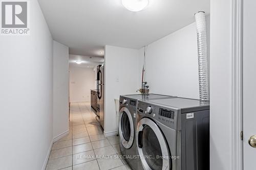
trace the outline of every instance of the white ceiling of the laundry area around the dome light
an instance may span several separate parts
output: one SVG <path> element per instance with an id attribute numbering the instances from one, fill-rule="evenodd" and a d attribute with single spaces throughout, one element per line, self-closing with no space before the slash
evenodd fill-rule
<path id="1" fill-rule="evenodd" d="M 131 12 L 121 0 L 38 0 L 54 40 L 70 54 L 103 57 L 104 45 L 141 48 L 209 14 L 210 0 L 150 0 Z"/>

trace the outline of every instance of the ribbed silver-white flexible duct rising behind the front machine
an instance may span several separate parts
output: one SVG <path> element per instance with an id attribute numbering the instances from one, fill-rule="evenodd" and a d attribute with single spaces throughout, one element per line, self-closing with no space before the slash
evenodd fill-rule
<path id="1" fill-rule="evenodd" d="M 206 20 L 204 12 L 195 14 L 197 25 L 199 93 L 201 101 L 209 100 Z"/>

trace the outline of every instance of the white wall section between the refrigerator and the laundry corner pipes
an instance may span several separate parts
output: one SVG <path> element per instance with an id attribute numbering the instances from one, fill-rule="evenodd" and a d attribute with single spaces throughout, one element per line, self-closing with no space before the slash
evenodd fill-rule
<path id="1" fill-rule="evenodd" d="M 105 46 L 104 133 L 116 131 L 114 99 L 121 94 L 134 94 L 138 87 L 138 50 Z"/>

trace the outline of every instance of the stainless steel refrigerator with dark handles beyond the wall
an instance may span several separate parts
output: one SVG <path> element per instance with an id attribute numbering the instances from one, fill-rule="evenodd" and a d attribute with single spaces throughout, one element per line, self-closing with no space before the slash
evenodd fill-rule
<path id="1" fill-rule="evenodd" d="M 97 116 L 104 129 L 104 65 L 97 66 Z"/>

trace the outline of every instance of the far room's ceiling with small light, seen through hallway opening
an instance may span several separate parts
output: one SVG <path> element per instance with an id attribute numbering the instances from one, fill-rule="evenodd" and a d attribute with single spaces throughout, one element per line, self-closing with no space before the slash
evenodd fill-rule
<path id="1" fill-rule="evenodd" d="M 82 63 L 76 64 L 76 61 L 81 61 Z M 71 67 L 94 68 L 96 65 L 102 64 L 103 62 L 104 58 L 102 57 L 69 55 L 69 65 Z"/>

